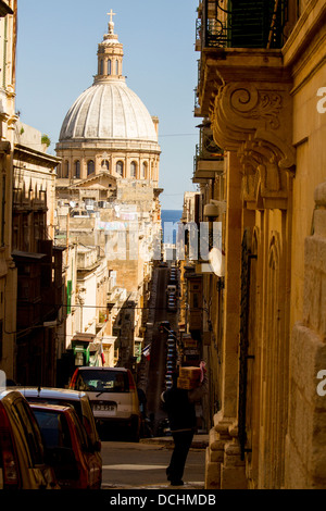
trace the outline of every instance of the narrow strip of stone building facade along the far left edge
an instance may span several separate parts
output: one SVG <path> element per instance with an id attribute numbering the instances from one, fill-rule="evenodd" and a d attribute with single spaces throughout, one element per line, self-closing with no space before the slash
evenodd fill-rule
<path id="1" fill-rule="evenodd" d="M 0 369 L 15 378 L 16 269 L 12 249 L 16 1 L 0 2 Z"/>

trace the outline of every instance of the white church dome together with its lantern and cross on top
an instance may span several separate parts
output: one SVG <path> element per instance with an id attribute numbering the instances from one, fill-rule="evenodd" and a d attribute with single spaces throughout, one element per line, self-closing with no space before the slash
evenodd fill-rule
<path id="1" fill-rule="evenodd" d="M 127 87 L 122 73 L 123 45 L 114 33 L 112 15 L 109 33 L 98 48 L 98 74 L 67 112 L 60 142 L 85 140 L 135 140 L 158 144 L 155 124 L 138 96 Z"/>

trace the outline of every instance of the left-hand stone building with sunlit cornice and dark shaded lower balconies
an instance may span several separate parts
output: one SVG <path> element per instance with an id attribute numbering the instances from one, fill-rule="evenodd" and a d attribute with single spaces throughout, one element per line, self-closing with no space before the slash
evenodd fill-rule
<path id="1" fill-rule="evenodd" d="M 17 269 L 15 379 L 57 382 L 58 332 L 64 322 L 63 251 L 54 247 L 55 167 L 39 130 L 16 123 L 12 258 Z"/>

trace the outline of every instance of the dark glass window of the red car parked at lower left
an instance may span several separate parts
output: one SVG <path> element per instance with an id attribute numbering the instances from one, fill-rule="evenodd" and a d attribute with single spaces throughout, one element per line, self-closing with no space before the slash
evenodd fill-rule
<path id="1" fill-rule="evenodd" d="M 47 448 L 72 448 L 71 433 L 63 413 L 51 410 L 34 409 L 33 411 Z"/>

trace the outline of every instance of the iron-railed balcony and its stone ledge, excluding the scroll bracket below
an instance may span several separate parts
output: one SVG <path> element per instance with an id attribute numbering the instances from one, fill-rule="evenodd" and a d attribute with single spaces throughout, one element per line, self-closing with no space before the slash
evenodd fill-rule
<path id="1" fill-rule="evenodd" d="M 203 0 L 198 15 L 196 116 L 211 116 L 213 98 L 225 83 L 253 76 L 256 82 L 284 80 L 280 49 L 290 30 L 288 0 Z"/>

